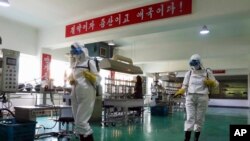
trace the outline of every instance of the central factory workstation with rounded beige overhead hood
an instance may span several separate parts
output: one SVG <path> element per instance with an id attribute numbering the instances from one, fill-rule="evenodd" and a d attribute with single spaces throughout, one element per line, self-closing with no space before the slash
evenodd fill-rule
<path id="1" fill-rule="evenodd" d="M 119 55 L 103 59 L 100 62 L 100 68 L 127 74 L 142 74 L 140 67 L 133 65 L 130 58 Z M 103 100 L 103 124 L 105 126 L 114 126 L 117 123 L 127 125 L 138 121 L 137 119 L 142 119 L 143 114 L 134 109 L 143 109 L 144 100 L 132 98 L 134 86 L 135 82 L 132 80 L 105 78 L 106 96 Z"/>

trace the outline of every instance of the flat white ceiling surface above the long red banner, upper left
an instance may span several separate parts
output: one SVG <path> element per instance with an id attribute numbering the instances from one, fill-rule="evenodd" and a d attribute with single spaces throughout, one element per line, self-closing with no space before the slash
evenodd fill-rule
<path id="1" fill-rule="evenodd" d="M 44 28 L 163 0 L 9 0 L 0 16 Z"/>

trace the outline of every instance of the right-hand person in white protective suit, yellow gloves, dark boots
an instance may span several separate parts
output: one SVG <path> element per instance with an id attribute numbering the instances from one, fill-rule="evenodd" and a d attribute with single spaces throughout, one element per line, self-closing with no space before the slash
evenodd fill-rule
<path id="1" fill-rule="evenodd" d="M 194 141 L 198 141 L 205 120 L 210 89 L 217 87 L 219 83 L 211 70 L 203 67 L 200 55 L 192 55 L 189 65 L 191 70 L 185 74 L 182 88 L 175 96 L 186 92 L 185 141 L 190 140 L 192 131 L 195 132 Z"/>

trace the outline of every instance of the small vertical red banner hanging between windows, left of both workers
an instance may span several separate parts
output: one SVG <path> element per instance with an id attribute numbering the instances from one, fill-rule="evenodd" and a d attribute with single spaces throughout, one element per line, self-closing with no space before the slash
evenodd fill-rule
<path id="1" fill-rule="evenodd" d="M 42 80 L 49 80 L 50 78 L 50 63 L 51 55 L 42 54 Z"/>

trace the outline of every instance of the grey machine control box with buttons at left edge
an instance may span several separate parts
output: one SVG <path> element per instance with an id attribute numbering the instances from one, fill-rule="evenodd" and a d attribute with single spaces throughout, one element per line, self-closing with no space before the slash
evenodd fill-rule
<path id="1" fill-rule="evenodd" d="M 0 51 L 0 91 L 18 91 L 18 71 L 20 52 L 1 49 Z"/>

